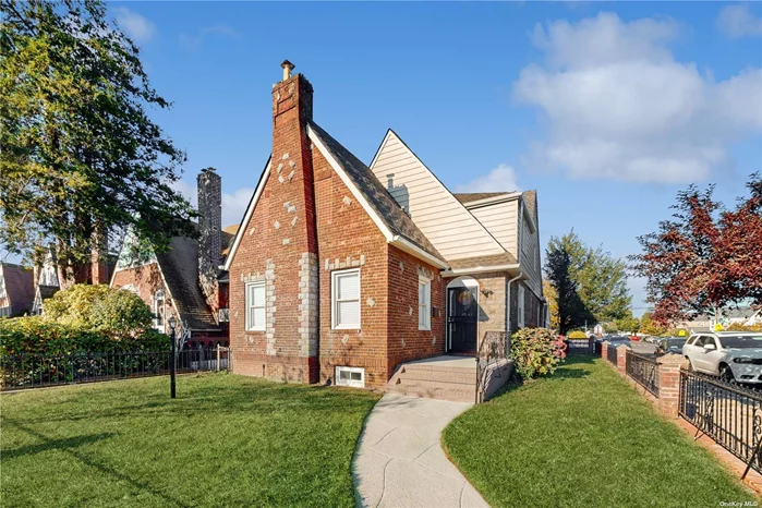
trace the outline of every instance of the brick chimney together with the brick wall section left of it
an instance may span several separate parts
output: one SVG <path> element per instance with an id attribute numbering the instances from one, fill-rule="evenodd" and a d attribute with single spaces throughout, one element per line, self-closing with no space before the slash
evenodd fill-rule
<path id="1" fill-rule="evenodd" d="M 318 380 L 317 237 L 306 122 L 312 86 L 301 75 L 273 87 L 270 176 L 230 266 L 230 341 L 237 373 Z M 306 264 L 305 264 L 306 263 Z M 245 330 L 245 281 L 266 280 L 265 331 Z"/>

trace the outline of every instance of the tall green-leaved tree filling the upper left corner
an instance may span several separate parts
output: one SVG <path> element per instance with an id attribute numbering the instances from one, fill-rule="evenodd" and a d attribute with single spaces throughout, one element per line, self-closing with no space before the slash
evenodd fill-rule
<path id="1" fill-rule="evenodd" d="M 98 0 L 0 0 L 0 244 L 53 244 L 59 280 L 130 228 L 156 249 L 193 235 L 170 184 L 185 155 L 154 123 L 170 104 Z"/>

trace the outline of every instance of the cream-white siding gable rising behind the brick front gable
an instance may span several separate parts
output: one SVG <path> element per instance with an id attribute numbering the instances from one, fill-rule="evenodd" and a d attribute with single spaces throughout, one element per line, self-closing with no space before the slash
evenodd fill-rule
<path id="1" fill-rule="evenodd" d="M 371 170 L 446 259 L 505 252 L 392 131 L 384 137 Z"/>

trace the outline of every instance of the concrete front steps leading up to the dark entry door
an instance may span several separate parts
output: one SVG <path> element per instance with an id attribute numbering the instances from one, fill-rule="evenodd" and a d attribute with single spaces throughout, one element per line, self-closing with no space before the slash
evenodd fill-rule
<path id="1" fill-rule="evenodd" d="M 464 356 L 436 356 L 403 363 L 389 379 L 386 391 L 474 403 L 476 361 Z"/>

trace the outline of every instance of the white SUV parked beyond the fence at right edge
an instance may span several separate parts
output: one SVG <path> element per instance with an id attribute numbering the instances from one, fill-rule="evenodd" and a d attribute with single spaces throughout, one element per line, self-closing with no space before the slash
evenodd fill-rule
<path id="1" fill-rule="evenodd" d="M 726 380 L 762 383 L 762 334 L 714 331 L 692 335 L 682 347 L 689 368 Z"/>

